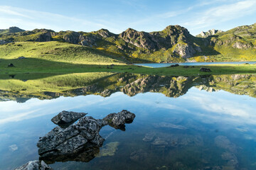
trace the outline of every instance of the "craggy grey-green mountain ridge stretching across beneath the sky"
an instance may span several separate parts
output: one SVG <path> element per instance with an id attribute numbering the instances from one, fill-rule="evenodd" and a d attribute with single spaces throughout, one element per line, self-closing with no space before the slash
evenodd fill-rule
<path id="1" fill-rule="evenodd" d="M 128 62 L 220 62 L 256 60 L 256 23 L 228 31 L 209 30 L 193 36 L 181 26 L 146 33 L 128 28 L 120 34 L 101 29 L 90 33 L 47 29 L 0 33 L 9 42 L 69 42 L 120 57 Z"/>

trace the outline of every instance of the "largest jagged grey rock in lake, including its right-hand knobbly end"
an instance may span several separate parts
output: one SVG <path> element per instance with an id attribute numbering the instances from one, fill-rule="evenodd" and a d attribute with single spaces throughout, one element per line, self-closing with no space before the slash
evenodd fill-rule
<path id="1" fill-rule="evenodd" d="M 124 123 L 131 123 L 134 118 L 134 113 L 121 111 L 111 113 L 103 120 L 85 116 L 66 129 L 55 127 L 38 141 L 40 159 L 48 164 L 67 161 L 89 162 L 100 152 L 100 147 L 105 141 L 99 134 L 103 126 L 123 128 Z"/>

